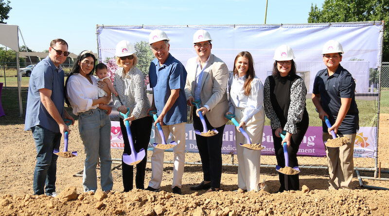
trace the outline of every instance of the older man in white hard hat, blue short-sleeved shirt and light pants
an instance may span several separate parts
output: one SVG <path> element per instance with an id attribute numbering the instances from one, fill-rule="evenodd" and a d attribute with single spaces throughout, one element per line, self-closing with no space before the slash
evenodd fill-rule
<path id="1" fill-rule="evenodd" d="M 186 70 L 169 53 L 169 38 L 166 33 L 154 30 L 149 35 L 149 44 L 155 55 L 149 68 L 150 86 L 153 88 L 153 103 L 149 110 L 157 110 L 158 118 L 154 123 L 162 127 L 165 138 L 172 133 L 177 146 L 174 151 L 174 171 L 172 191 L 181 194 L 182 174 L 185 164 L 185 124 L 187 106 L 185 99 Z M 157 132 L 157 129 L 155 130 Z M 160 144 L 161 137 L 156 133 L 155 141 Z M 152 175 L 147 190 L 159 191 L 162 181 L 164 150 L 154 148 L 151 156 Z"/>

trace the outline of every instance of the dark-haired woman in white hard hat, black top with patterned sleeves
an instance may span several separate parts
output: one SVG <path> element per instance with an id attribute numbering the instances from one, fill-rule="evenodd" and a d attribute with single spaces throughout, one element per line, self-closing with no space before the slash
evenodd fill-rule
<path id="1" fill-rule="evenodd" d="M 277 164 L 285 166 L 282 143 L 288 146 L 289 166 L 299 166 L 297 152 L 304 134 L 308 129 L 308 113 L 305 108 L 307 90 L 304 81 L 296 74 L 293 50 L 281 45 L 274 52 L 273 74 L 265 80 L 264 105 L 266 116 L 270 119 Z M 286 131 L 282 140 L 280 133 Z M 284 175 L 279 173 L 281 187 L 285 190 L 288 178 L 289 190 L 300 190 L 299 174 Z"/>

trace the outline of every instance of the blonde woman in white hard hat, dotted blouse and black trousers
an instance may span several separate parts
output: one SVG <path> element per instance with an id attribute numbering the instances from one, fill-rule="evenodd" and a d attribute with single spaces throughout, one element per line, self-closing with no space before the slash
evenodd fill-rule
<path id="1" fill-rule="evenodd" d="M 124 140 L 123 153 L 130 154 L 130 144 L 128 142 L 127 132 L 124 121 L 130 122 L 130 129 L 134 148 L 136 152 L 141 149 L 147 149 L 150 141 L 151 126 L 153 120 L 147 115 L 150 108 L 150 102 L 146 95 L 146 85 L 144 83 L 144 74 L 136 67 L 138 57 L 135 54 L 134 47 L 129 41 L 122 40 L 116 45 L 116 64 L 119 66 L 115 71 L 115 80 L 113 86 L 118 92 L 118 96 L 112 94 L 113 105 L 119 112 L 126 113 L 130 109 L 130 116 L 126 119 L 120 119 L 120 129 L 122 130 Z M 141 163 L 137 164 L 135 185 L 138 189 L 144 189 L 144 173 L 146 169 L 146 156 Z M 122 174 L 124 192 L 133 188 L 133 169 L 134 166 L 127 165 L 122 158 Z"/>

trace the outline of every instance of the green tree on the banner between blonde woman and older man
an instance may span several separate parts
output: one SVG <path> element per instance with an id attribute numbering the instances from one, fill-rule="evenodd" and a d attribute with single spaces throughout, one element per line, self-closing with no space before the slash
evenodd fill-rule
<path id="1" fill-rule="evenodd" d="M 148 75 L 150 62 L 155 58 L 153 52 L 150 50 L 149 43 L 146 41 L 136 42 L 134 48 L 138 56 L 137 67 L 144 75 Z"/>

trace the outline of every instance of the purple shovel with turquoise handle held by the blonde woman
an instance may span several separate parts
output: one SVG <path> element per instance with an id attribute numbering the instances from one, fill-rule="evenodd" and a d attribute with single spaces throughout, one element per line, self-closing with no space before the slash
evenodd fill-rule
<path id="1" fill-rule="evenodd" d="M 127 108 L 126 114 L 123 114 L 122 112 L 119 113 L 124 118 L 127 118 L 130 115 L 130 108 Z M 132 142 L 130 123 L 128 122 L 128 120 L 124 121 L 124 125 L 125 125 L 125 130 L 127 131 L 128 142 L 130 143 L 131 154 L 128 155 L 127 153 L 123 153 L 123 162 L 130 166 L 134 166 L 141 163 L 144 156 L 146 155 L 146 152 L 144 151 L 143 148 L 139 150 L 139 152 L 135 151 L 134 143 Z"/>

